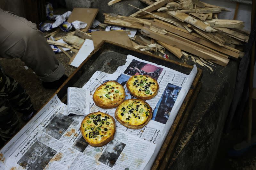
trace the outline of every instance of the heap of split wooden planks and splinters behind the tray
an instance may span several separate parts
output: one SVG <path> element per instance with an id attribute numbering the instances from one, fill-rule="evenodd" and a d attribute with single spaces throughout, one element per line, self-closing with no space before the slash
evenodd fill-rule
<path id="1" fill-rule="evenodd" d="M 208 64 L 206 67 L 212 63 L 226 66 L 230 58 L 243 56 L 241 49 L 248 42 L 248 32 L 243 30 L 242 21 L 218 19 L 218 13 L 227 9 L 199 0 L 140 1 L 148 6 L 137 8 L 129 17 L 104 14 L 105 24 L 136 28 L 149 38 L 136 35 L 134 48 L 163 54 L 166 49 L 178 58 L 189 53 L 192 61 Z"/>

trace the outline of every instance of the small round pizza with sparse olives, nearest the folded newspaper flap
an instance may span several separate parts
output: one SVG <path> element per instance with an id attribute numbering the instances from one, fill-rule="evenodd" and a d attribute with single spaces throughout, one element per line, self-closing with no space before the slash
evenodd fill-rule
<path id="1" fill-rule="evenodd" d="M 100 85 L 92 97 L 94 103 L 103 109 L 117 107 L 124 98 L 124 87 L 116 81 L 107 81 Z"/>

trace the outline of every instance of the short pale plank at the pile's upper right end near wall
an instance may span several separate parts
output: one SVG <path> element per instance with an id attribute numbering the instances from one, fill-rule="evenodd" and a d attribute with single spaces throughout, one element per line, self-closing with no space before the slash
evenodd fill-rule
<path id="1" fill-rule="evenodd" d="M 212 27 L 221 27 L 221 28 L 243 28 L 244 22 L 238 20 L 228 20 L 228 19 L 212 19 L 206 21 Z"/>

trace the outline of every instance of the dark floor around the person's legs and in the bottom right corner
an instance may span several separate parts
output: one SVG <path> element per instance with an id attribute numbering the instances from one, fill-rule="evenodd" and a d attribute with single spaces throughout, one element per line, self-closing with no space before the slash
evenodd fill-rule
<path id="1" fill-rule="evenodd" d="M 44 34 L 46 35 L 47 33 Z M 59 32 L 56 37 L 63 34 L 65 33 Z M 74 53 L 68 53 L 71 56 L 74 55 Z M 70 76 L 75 68 L 68 66 L 69 58 L 63 53 L 56 56 L 60 63 L 64 65 L 65 74 Z M 55 92 L 55 90 L 44 89 L 38 76 L 33 73 L 33 70 L 26 70 L 25 63 L 21 62 L 20 59 L 0 58 L 0 64 L 6 74 L 16 79 L 26 89 L 36 110 L 39 110 Z M 24 122 L 21 122 L 21 124 L 24 124 Z M 213 169 L 256 169 L 256 147 L 252 147 L 239 158 L 230 158 L 227 155 L 228 149 L 242 140 L 242 131 L 232 131 L 228 135 L 223 134 Z"/>

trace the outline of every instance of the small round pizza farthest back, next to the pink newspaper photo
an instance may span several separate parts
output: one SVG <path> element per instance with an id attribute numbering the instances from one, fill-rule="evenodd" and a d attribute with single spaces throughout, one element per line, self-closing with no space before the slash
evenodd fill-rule
<path id="1" fill-rule="evenodd" d="M 129 78 L 126 87 L 132 96 L 148 100 L 156 96 L 159 89 L 157 81 L 147 75 L 135 75 Z"/>

